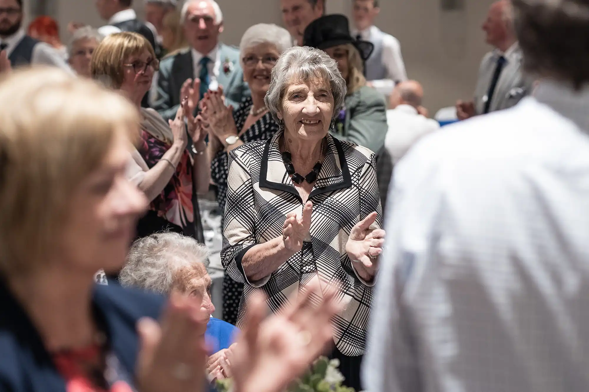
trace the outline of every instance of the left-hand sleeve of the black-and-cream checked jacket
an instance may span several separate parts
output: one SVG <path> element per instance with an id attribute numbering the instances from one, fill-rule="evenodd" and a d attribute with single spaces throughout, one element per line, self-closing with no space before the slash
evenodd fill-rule
<path id="1" fill-rule="evenodd" d="M 227 175 L 221 263 L 234 281 L 249 283 L 243 272 L 241 259 L 249 248 L 256 245 L 255 227 L 256 208 L 254 207 L 252 177 L 237 152 L 231 151 L 229 154 L 229 175 Z"/>

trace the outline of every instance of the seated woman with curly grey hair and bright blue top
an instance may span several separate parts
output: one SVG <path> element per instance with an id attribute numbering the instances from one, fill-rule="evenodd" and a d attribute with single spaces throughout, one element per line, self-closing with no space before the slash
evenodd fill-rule
<path id="1" fill-rule="evenodd" d="M 202 297 L 201 307 L 213 314 L 209 250 L 194 238 L 174 232 L 152 234 L 135 241 L 127 256 L 127 263 L 119 281 L 123 286 L 138 287 L 164 295 L 172 292 Z M 235 338 L 234 325 L 211 316 L 207 324 L 207 347 L 210 357 L 207 370 L 213 377 L 230 374 L 227 355 Z M 213 355 L 216 354 L 216 355 Z"/>

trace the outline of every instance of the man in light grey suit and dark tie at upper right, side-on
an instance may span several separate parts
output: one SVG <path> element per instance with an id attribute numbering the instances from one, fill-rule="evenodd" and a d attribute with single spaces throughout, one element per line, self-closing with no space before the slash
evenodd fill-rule
<path id="1" fill-rule="evenodd" d="M 459 119 L 510 108 L 532 89 L 533 80 L 522 73 L 522 54 L 508 0 L 491 5 L 482 29 L 487 34 L 487 44 L 495 49 L 482 59 L 474 101 L 456 102 Z"/>

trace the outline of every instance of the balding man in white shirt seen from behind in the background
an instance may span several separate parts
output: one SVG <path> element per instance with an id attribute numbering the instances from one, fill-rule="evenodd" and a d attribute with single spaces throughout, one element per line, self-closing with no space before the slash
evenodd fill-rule
<path id="1" fill-rule="evenodd" d="M 422 101 L 423 87 L 413 80 L 399 83 L 391 94 L 391 109 L 386 112 L 389 131 L 385 147 L 391 154 L 393 164 L 419 139 L 440 128 L 438 121 L 422 115 Z"/>

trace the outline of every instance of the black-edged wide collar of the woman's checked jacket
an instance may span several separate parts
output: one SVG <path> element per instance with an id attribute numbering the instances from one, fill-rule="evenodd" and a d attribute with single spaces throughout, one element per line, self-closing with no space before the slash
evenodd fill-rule
<path id="1" fill-rule="evenodd" d="M 262 155 L 262 167 L 260 167 L 260 188 L 289 192 L 300 199 L 299 192 L 294 188 L 293 182 L 286 172 L 280 153 L 279 141 L 283 134 L 283 131 L 276 132 L 272 139 L 266 142 Z M 348 162 L 343 155 L 342 143 L 328 134 L 326 150 L 321 171 L 309 199 L 318 194 L 352 186 L 352 177 Z"/>

